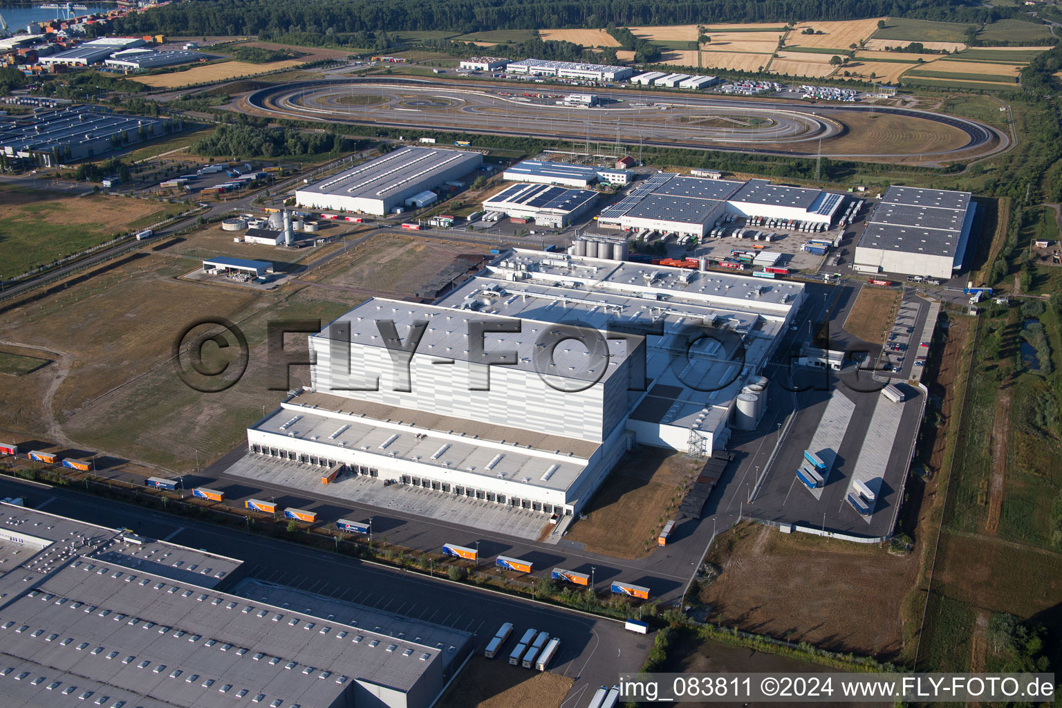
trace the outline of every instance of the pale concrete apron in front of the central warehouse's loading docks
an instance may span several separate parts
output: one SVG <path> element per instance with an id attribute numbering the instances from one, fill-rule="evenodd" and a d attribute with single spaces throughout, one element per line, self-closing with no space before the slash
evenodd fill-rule
<path id="1" fill-rule="evenodd" d="M 436 521 L 461 524 L 483 531 L 537 540 L 548 525 L 547 517 L 530 510 L 513 510 L 467 497 L 444 496 L 435 491 L 401 484 L 383 486 L 370 477 L 342 477 L 321 484 L 321 469 L 286 460 L 245 456 L 225 470 L 228 477 L 241 477 L 287 489 L 302 489 L 335 497 L 338 502 L 355 502 L 380 510 L 414 514 Z"/>

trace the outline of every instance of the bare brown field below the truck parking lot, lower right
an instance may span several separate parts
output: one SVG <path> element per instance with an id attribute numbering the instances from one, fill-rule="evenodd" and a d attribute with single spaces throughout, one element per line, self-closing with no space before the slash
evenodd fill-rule
<path id="1" fill-rule="evenodd" d="M 707 560 L 722 569 L 700 595 L 716 621 L 885 659 L 902 650 L 900 608 L 917 554 L 742 523 L 720 534 Z M 780 592 L 784 577 L 799 577 L 800 591 Z"/>

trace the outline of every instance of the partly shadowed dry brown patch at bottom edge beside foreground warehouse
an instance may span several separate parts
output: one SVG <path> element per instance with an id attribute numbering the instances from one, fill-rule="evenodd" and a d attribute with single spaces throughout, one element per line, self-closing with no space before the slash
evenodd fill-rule
<path id="1" fill-rule="evenodd" d="M 527 671 L 476 655 L 436 708 L 559 708 L 573 680 L 548 671 Z"/>

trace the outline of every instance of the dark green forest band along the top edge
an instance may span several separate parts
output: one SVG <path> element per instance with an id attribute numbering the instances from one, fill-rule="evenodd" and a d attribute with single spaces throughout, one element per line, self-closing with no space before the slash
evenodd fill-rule
<path id="1" fill-rule="evenodd" d="M 846 20 L 876 16 L 984 22 L 1023 17 L 1022 7 L 960 0 L 193 0 L 115 21 L 139 35 L 259 35 L 356 32 L 636 27 L 712 22 Z"/>

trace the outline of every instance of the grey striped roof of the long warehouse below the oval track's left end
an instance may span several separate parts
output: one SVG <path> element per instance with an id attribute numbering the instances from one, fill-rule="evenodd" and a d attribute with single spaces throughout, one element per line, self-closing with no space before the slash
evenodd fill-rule
<path id="1" fill-rule="evenodd" d="M 400 148 L 322 182 L 302 187 L 298 191 L 384 200 L 400 194 L 411 185 L 430 179 L 444 170 L 464 167 L 470 172 L 482 162 L 483 156 L 477 152 Z"/>

